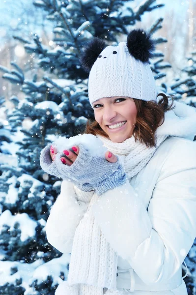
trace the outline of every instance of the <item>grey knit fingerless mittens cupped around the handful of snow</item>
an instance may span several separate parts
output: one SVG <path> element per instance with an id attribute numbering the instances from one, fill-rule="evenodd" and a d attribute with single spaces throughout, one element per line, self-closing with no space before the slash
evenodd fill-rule
<path id="1" fill-rule="evenodd" d="M 100 156 L 92 156 L 82 144 L 75 162 L 65 165 L 60 160 L 60 153 L 52 161 L 50 157 L 50 146 L 48 145 L 41 151 L 40 165 L 42 169 L 50 175 L 69 180 L 78 188 L 84 191 L 95 189 L 98 195 L 120 186 L 126 181 L 123 167 L 117 160 L 110 163 Z"/>

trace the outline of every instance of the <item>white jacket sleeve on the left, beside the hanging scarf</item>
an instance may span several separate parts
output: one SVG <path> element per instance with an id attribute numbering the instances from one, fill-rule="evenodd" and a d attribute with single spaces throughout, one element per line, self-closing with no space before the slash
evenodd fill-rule
<path id="1" fill-rule="evenodd" d="M 76 228 L 87 210 L 94 191 L 84 192 L 63 180 L 61 192 L 46 223 L 48 242 L 62 253 L 71 253 Z"/>

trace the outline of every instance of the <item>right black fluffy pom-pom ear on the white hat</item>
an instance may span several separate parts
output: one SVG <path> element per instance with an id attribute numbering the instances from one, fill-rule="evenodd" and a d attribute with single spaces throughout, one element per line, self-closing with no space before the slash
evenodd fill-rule
<path id="1" fill-rule="evenodd" d="M 135 59 L 148 62 L 155 50 L 155 42 L 143 29 L 133 29 L 127 36 L 127 47 L 130 55 Z"/>

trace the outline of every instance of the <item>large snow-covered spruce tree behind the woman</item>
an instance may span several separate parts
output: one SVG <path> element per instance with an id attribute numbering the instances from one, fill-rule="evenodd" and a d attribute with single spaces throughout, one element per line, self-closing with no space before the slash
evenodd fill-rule
<path id="1" fill-rule="evenodd" d="M 138 1 L 137 1 L 138 3 Z M 156 0 L 34 0 L 34 5 L 48 13 L 54 24 L 54 38 L 50 46 L 42 44 L 38 34 L 25 40 L 25 50 L 44 71 L 37 81 L 17 64 L 13 69 L 0 69 L 3 78 L 21 85 L 25 99 L 11 97 L 14 104 L 7 110 L 6 127 L 12 135 L 9 153 L 17 155 L 17 164 L 6 161 L 5 142 L 0 164 L 0 294 L 53 295 L 56 286 L 67 277 L 70 255 L 59 253 L 47 242 L 44 226 L 50 207 L 59 193 L 60 181 L 43 173 L 39 154 L 56 136 L 66 137 L 79 133 L 86 120 L 93 118 L 87 99 L 87 74 L 81 69 L 79 57 L 84 43 L 92 36 L 106 39 L 115 45 L 126 38 L 130 26 L 141 21 L 144 13 L 163 4 Z M 151 33 L 161 28 L 163 19 L 151 27 Z M 157 38 L 157 44 L 166 42 Z M 152 61 L 155 78 L 166 74 L 170 67 L 163 54 L 156 51 Z M 2 183 L 7 183 L 3 186 Z"/>

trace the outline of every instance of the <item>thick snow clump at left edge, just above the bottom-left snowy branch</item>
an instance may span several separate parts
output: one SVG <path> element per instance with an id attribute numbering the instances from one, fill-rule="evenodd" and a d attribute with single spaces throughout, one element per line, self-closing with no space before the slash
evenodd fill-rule
<path id="1" fill-rule="evenodd" d="M 12 215 L 9 210 L 5 210 L 0 215 L 0 231 L 3 225 L 10 226 L 10 231 L 12 231 L 16 222 L 20 224 L 21 241 L 25 241 L 28 237 L 35 236 L 37 222 L 30 219 L 27 213 Z"/>

